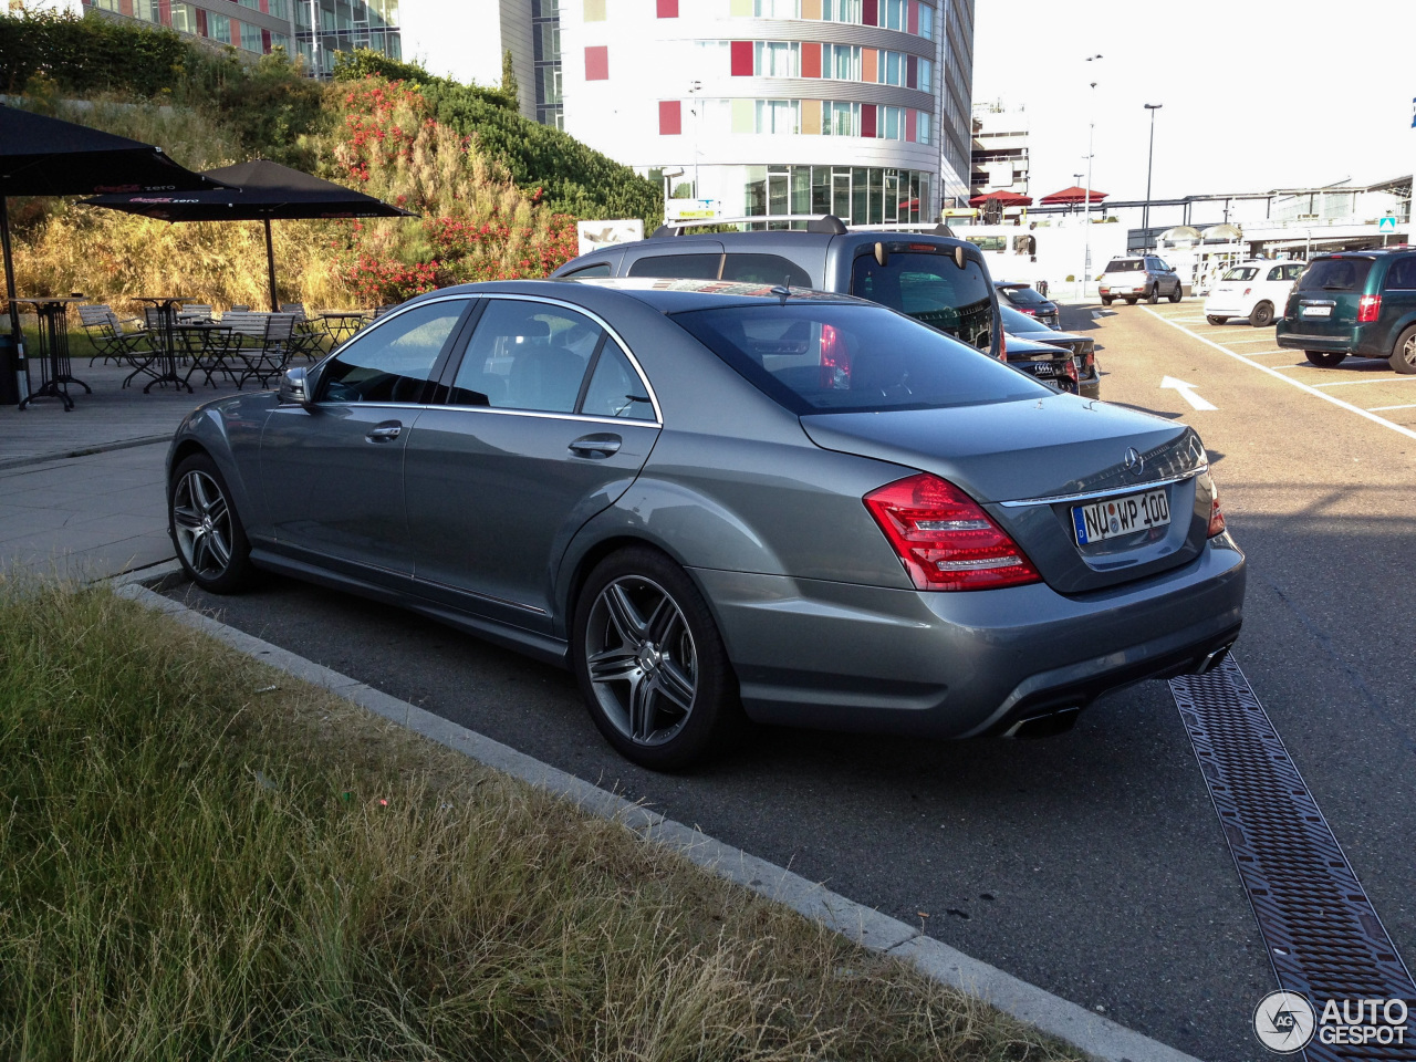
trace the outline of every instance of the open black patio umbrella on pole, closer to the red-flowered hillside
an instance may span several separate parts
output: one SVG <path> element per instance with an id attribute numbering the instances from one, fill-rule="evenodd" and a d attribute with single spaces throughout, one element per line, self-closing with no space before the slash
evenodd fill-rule
<path id="1" fill-rule="evenodd" d="M 265 159 L 207 170 L 202 176 L 235 187 L 183 195 L 96 195 L 84 202 L 163 221 L 263 221 L 272 310 L 280 309 L 275 290 L 272 221 L 418 217 L 412 211 L 346 188 L 343 184 L 324 181 Z"/>

